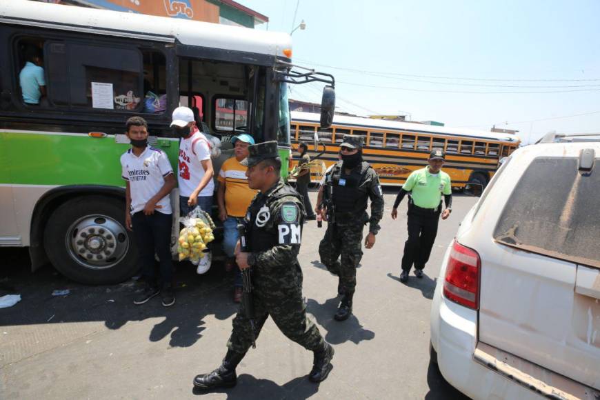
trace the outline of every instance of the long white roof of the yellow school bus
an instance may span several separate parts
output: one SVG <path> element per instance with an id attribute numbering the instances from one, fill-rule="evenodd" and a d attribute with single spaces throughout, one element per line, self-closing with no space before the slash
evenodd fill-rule
<path id="1" fill-rule="evenodd" d="M 319 114 L 312 112 L 291 112 L 292 121 L 319 123 Z M 488 132 L 486 130 L 470 130 L 461 128 L 448 128 L 446 126 L 432 126 L 421 123 L 385 121 L 381 119 L 371 119 L 362 117 L 346 117 L 345 115 L 334 115 L 333 125 L 352 126 L 357 128 L 369 128 L 380 130 L 401 130 L 402 132 L 412 132 L 415 134 L 440 134 L 446 136 L 466 137 L 472 139 L 508 141 L 519 143 L 519 137 L 514 134 Z"/>

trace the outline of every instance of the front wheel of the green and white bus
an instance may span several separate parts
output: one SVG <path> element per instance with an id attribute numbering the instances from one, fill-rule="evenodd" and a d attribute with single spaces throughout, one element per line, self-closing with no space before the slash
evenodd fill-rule
<path id="1" fill-rule="evenodd" d="M 59 206 L 48 219 L 44 247 L 54 268 L 80 283 L 119 283 L 137 272 L 125 205 L 110 197 L 81 197 Z"/>

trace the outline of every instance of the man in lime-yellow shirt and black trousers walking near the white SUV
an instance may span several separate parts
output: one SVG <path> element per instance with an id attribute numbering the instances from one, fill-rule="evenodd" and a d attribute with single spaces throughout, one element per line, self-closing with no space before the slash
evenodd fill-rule
<path id="1" fill-rule="evenodd" d="M 400 274 L 402 282 L 408 281 L 408 272 L 413 264 L 417 278 L 423 277 L 423 268 L 431 254 L 440 214 L 441 219 L 446 219 L 452 212 L 452 186 L 448 174 L 441 170 L 443 163 L 443 150 L 434 148 L 429 157 L 429 166 L 415 170 L 408 176 L 394 202 L 392 219 L 396 219 L 400 202 L 410 193 L 407 214 L 408 239 L 404 244 Z M 446 204 L 443 211 L 442 194 Z"/>

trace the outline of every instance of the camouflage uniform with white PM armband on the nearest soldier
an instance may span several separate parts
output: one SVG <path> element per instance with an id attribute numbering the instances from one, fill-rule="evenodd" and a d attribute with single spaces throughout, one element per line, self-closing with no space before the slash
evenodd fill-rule
<path id="1" fill-rule="evenodd" d="M 268 212 L 266 212 L 268 210 Z M 270 315 L 289 339 L 311 351 L 323 349 L 319 328 L 306 316 L 302 298 L 302 270 L 298 262 L 303 202 L 299 194 L 279 180 L 270 190 L 259 193 L 246 215 L 246 240 L 252 267 L 252 298 L 258 336 Z M 227 343 L 230 350 L 244 353 L 252 344 L 252 328 L 242 303 L 233 320 Z"/>

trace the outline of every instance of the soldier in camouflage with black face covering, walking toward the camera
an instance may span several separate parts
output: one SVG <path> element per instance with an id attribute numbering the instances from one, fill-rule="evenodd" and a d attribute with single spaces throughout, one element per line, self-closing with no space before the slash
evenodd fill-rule
<path id="1" fill-rule="evenodd" d="M 321 212 L 326 214 L 328 224 L 319 255 L 329 272 L 339 277 L 337 291 L 342 299 L 334 319 L 345 321 L 352 314 L 357 266 L 363 257 L 363 226 L 369 223 L 365 239 L 365 247 L 369 249 L 375 244 L 383 217 L 383 193 L 377 172 L 362 159 L 362 137 L 344 135 L 340 154 L 341 161 L 325 178 Z M 366 212 L 368 199 L 371 199 L 370 218 Z"/>

